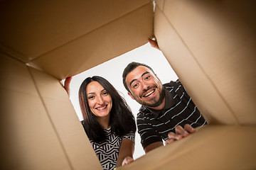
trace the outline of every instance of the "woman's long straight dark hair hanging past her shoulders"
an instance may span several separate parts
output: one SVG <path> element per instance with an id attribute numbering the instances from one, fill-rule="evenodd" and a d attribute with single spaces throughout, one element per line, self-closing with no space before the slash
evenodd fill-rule
<path id="1" fill-rule="evenodd" d="M 114 86 L 103 77 L 88 77 L 85 79 L 79 89 L 79 103 L 82 111 L 82 125 L 90 140 L 94 142 L 104 142 L 106 139 L 105 131 L 97 121 L 96 116 L 90 111 L 87 100 L 86 87 L 90 82 L 97 81 L 110 94 L 112 98 L 112 109 L 110 111 L 110 126 L 111 131 L 123 136 L 129 132 L 136 132 L 136 124 L 132 111 L 126 101 L 120 96 Z"/>

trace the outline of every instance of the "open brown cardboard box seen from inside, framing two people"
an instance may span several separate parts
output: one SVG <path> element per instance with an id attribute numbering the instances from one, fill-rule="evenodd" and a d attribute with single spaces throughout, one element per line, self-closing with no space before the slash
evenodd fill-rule
<path id="1" fill-rule="evenodd" d="M 1 1 L 1 169 L 102 169 L 60 80 L 152 35 L 208 125 L 119 169 L 255 169 L 254 6 Z"/>

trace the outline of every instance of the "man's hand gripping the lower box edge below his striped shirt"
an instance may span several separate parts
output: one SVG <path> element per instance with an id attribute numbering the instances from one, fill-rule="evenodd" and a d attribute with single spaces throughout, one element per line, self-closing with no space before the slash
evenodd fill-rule
<path id="1" fill-rule="evenodd" d="M 186 124 L 184 128 L 182 128 L 180 125 L 176 126 L 175 132 L 176 133 L 169 132 L 169 139 L 165 142 L 166 145 L 176 140 L 181 140 L 183 137 L 187 137 L 190 133 L 196 132 L 196 130 L 191 125 Z"/>

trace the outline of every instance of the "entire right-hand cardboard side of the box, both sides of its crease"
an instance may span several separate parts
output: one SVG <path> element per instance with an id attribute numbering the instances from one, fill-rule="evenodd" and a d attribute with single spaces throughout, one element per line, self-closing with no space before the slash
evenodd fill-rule
<path id="1" fill-rule="evenodd" d="M 165 1 L 155 19 L 161 50 L 210 123 L 256 123 L 254 2 L 240 4 Z M 187 54 L 176 50 L 175 36 Z"/>

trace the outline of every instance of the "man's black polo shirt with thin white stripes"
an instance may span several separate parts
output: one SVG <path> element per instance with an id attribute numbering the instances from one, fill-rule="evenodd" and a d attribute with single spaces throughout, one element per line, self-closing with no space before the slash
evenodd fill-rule
<path id="1" fill-rule="evenodd" d="M 162 111 L 153 111 L 142 106 L 137 114 L 137 127 L 143 148 L 154 142 L 168 139 L 169 132 L 175 132 L 177 125 L 193 128 L 206 125 L 206 120 L 191 100 L 181 81 L 164 84 L 165 106 Z"/>

